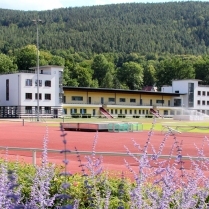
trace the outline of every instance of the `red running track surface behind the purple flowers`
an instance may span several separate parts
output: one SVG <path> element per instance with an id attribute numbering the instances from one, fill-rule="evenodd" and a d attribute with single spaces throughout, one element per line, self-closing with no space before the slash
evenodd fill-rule
<path id="1" fill-rule="evenodd" d="M 0 146 L 8 147 L 25 147 L 25 148 L 43 148 L 43 138 L 48 129 L 48 149 L 62 150 L 63 143 L 60 137 L 59 124 L 57 126 L 49 126 L 44 123 L 25 123 L 23 126 L 22 122 L 0 122 Z M 92 151 L 92 145 L 95 132 L 76 132 L 76 131 L 66 131 L 67 136 L 67 148 L 74 150 L 76 147 L 80 151 Z M 183 141 L 183 152 L 182 155 L 197 156 L 197 150 L 194 146 L 196 144 L 201 147 L 205 136 L 208 134 L 195 134 L 195 133 L 184 133 L 177 135 L 177 141 Z M 101 152 L 126 152 L 124 145 L 128 147 L 132 152 L 139 152 L 136 147 L 134 147 L 132 139 L 134 139 L 143 148 L 146 144 L 148 136 L 148 131 L 143 132 L 129 132 L 129 133 L 109 133 L 109 132 L 99 132 L 97 138 L 97 144 L 95 151 Z M 157 151 L 163 141 L 164 136 L 157 131 L 154 131 L 151 138 L 150 144 Z M 169 136 L 163 146 L 162 154 L 169 154 L 170 149 L 174 143 L 174 137 Z M 150 147 L 150 146 L 149 146 Z M 209 146 L 204 147 L 205 153 L 209 153 Z M 1 150 L 1 156 L 5 156 L 5 150 Z M 152 153 L 151 149 L 148 149 L 148 153 Z M 175 152 L 173 153 L 176 154 Z M 9 151 L 9 158 L 15 159 L 18 156 L 18 160 L 25 162 L 32 162 L 31 152 L 25 151 Z M 38 157 L 41 155 L 37 154 Z M 62 163 L 63 156 L 59 153 L 49 154 L 49 161 L 57 164 Z M 75 155 L 68 156 L 70 163 L 68 169 L 72 172 L 79 172 L 78 161 Z M 114 171 L 124 171 L 128 173 L 128 169 L 124 165 L 124 158 L 132 165 L 134 170 L 137 170 L 136 162 L 130 157 L 114 157 L 114 156 L 103 156 L 103 168 L 105 170 Z M 37 161 L 40 161 L 37 160 Z M 84 156 L 82 156 L 82 161 L 86 162 Z M 189 168 L 189 164 L 185 163 L 186 168 Z M 127 174 L 128 175 L 128 174 Z M 131 174 L 130 174 L 131 175 Z"/>

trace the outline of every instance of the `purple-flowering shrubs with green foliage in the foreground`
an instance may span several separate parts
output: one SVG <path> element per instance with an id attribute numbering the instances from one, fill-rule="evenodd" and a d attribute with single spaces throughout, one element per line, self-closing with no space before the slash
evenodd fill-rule
<path id="1" fill-rule="evenodd" d="M 70 174 L 66 133 L 61 127 L 64 148 L 63 166 L 55 167 L 47 161 L 48 133 L 43 142 L 42 164 L 32 166 L 0 161 L 0 208 L 4 209 L 193 209 L 209 208 L 209 160 L 204 147 L 209 145 L 207 137 L 201 147 L 196 147 L 197 159 L 190 158 L 190 170 L 184 167 L 182 142 L 170 130 L 164 135 L 158 149 L 151 144 L 155 118 L 144 145 L 133 140 L 140 157 L 125 146 L 128 155 L 138 165 L 134 171 L 125 160 L 127 170 L 134 181 L 113 177 L 102 170 L 102 156 L 95 155 L 98 133 L 94 138 L 92 154 L 81 161 L 77 158 L 81 174 Z M 161 159 L 166 141 L 173 139 L 167 159 Z M 149 153 L 148 153 L 149 150 Z M 151 150 L 151 153 L 150 153 Z M 151 154 L 151 155 L 150 155 Z M 176 156 L 175 159 L 172 159 Z"/>

